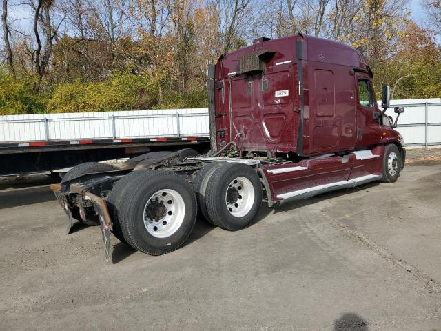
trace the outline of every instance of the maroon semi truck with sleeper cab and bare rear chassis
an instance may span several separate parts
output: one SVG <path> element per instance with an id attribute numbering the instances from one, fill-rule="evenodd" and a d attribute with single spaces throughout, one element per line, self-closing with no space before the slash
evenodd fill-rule
<path id="1" fill-rule="evenodd" d="M 147 254 L 176 250 L 201 213 L 240 230 L 269 206 L 371 181 L 393 183 L 404 141 L 377 107 L 373 74 L 342 43 L 260 38 L 209 67 L 211 150 L 150 152 L 121 167 L 82 163 L 52 190 L 72 219 Z M 397 119 L 402 112 L 396 108 Z"/>

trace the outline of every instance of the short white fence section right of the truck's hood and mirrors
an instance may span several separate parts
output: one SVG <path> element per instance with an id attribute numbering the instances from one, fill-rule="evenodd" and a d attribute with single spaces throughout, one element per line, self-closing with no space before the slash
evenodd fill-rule
<path id="1" fill-rule="evenodd" d="M 406 146 L 441 145 L 441 99 L 393 100 L 386 112 L 393 119 L 395 106 L 404 107 L 396 130 L 404 137 Z"/>

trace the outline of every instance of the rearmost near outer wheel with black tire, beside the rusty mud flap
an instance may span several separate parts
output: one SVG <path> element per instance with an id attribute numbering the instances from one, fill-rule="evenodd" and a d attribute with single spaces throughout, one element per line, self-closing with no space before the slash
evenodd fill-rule
<path id="1" fill-rule="evenodd" d="M 179 248 L 194 228 L 194 190 L 178 174 L 167 171 L 132 172 L 119 201 L 123 237 L 136 250 L 161 255 Z"/>

